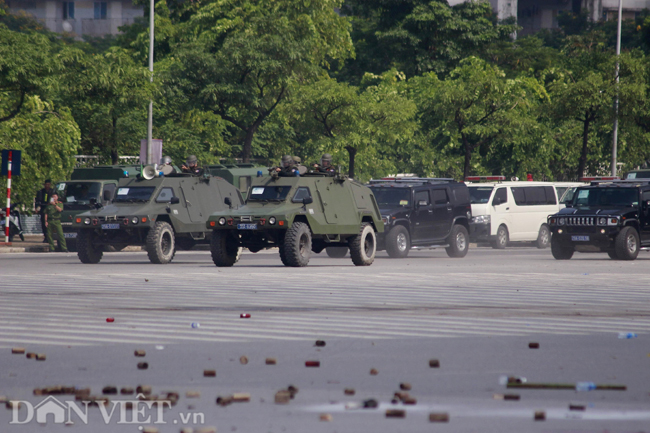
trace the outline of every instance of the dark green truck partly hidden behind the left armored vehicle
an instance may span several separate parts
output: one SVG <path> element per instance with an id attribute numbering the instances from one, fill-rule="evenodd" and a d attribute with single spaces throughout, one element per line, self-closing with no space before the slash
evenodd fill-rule
<path id="1" fill-rule="evenodd" d="M 120 179 L 137 176 L 140 165 L 99 165 L 77 168 L 70 180 L 59 182 L 55 190 L 65 203 L 61 213 L 63 235 L 69 251 L 76 251 L 77 231 L 73 229 L 74 217 L 95 208 L 95 204 L 108 204 Z M 55 235 L 56 237 L 56 235 Z"/>

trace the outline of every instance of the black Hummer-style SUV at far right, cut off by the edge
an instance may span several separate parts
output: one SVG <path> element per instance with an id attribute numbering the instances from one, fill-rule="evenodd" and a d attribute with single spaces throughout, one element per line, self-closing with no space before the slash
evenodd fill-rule
<path id="1" fill-rule="evenodd" d="M 566 206 L 548 217 L 551 252 L 558 260 L 575 251 L 634 260 L 642 247 L 650 247 L 650 181 L 592 182 L 579 187 Z"/>

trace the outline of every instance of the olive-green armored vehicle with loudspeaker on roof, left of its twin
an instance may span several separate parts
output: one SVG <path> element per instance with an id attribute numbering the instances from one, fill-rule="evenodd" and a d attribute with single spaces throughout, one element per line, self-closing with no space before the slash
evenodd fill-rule
<path id="1" fill-rule="evenodd" d="M 75 217 L 79 260 L 98 263 L 106 246 L 140 245 L 152 263 L 169 263 L 177 248 L 209 243 L 205 221 L 226 208 L 224 200 L 243 204 L 237 188 L 209 175 L 144 173 L 121 179 L 110 204 Z"/>

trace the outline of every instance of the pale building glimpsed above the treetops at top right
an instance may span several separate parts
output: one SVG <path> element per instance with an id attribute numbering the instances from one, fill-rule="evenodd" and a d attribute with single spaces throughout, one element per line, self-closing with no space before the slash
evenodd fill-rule
<path id="1" fill-rule="evenodd" d="M 467 0 L 449 0 L 449 4 L 464 1 Z M 586 9 L 593 21 L 618 17 L 618 0 L 490 0 L 490 4 L 500 20 L 517 17 L 517 24 L 522 27 L 518 36 L 557 28 L 561 12 L 577 14 Z M 644 9 L 650 9 L 650 0 L 623 0 L 623 19 L 633 19 Z"/>

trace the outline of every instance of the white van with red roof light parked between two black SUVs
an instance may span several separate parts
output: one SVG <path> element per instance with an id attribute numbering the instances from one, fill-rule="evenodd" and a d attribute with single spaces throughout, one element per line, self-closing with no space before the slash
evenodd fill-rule
<path id="1" fill-rule="evenodd" d="M 546 218 L 560 210 L 553 182 L 488 182 L 467 186 L 472 204 L 472 242 L 490 242 L 492 248 L 498 249 L 510 242 L 535 241 L 538 248 L 550 245 Z"/>

